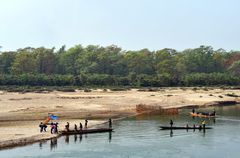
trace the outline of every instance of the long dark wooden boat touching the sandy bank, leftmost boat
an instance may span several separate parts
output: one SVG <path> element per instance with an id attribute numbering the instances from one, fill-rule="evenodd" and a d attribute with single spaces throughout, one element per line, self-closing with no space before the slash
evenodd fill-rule
<path id="1" fill-rule="evenodd" d="M 103 132 L 112 132 L 112 128 L 93 128 L 93 129 L 82 129 L 82 130 L 69 130 L 69 131 L 60 131 L 61 135 L 73 135 L 73 134 L 88 134 L 88 133 L 103 133 Z"/>

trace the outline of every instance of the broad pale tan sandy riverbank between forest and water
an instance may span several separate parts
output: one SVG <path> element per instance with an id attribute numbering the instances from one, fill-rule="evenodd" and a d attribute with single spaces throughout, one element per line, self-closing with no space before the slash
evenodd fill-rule
<path id="1" fill-rule="evenodd" d="M 230 96 L 234 94 L 235 97 Z M 60 129 L 65 122 L 79 124 L 88 118 L 90 125 L 109 117 L 137 114 L 136 105 L 180 108 L 211 105 L 217 101 L 240 101 L 240 91 L 233 89 L 163 88 L 158 91 L 103 91 L 8 93 L 0 92 L 0 148 L 14 146 L 56 135 L 39 133 L 38 124 L 48 113 L 59 116 Z"/>

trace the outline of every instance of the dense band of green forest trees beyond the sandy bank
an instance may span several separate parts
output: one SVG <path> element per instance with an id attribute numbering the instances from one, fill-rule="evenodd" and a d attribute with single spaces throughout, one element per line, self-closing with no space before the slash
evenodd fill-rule
<path id="1" fill-rule="evenodd" d="M 240 52 L 211 46 L 183 51 L 131 51 L 116 45 L 27 47 L 1 51 L 0 85 L 238 86 Z"/>

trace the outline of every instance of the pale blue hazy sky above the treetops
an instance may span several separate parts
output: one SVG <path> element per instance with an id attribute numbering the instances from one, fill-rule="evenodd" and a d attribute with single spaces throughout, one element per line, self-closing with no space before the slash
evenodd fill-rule
<path id="1" fill-rule="evenodd" d="M 0 0 L 0 50 L 77 44 L 240 50 L 239 8 L 239 0 Z"/>

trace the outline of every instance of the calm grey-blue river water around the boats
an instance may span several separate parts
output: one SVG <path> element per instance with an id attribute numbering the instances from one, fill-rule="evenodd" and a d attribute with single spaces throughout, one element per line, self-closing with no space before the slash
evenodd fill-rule
<path id="1" fill-rule="evenodd" d="M 202 119 L 188 115 L 142 115 L 113 123 L 113 133 L 73 135 L 23 147 L 1 150 L 1 158 L 239 158 L 240 105 L 197 109 L 211 111 L 218 118 L 207 119 L 213 129 L 160 130 L 160 125 L 198 124 Z"/>

